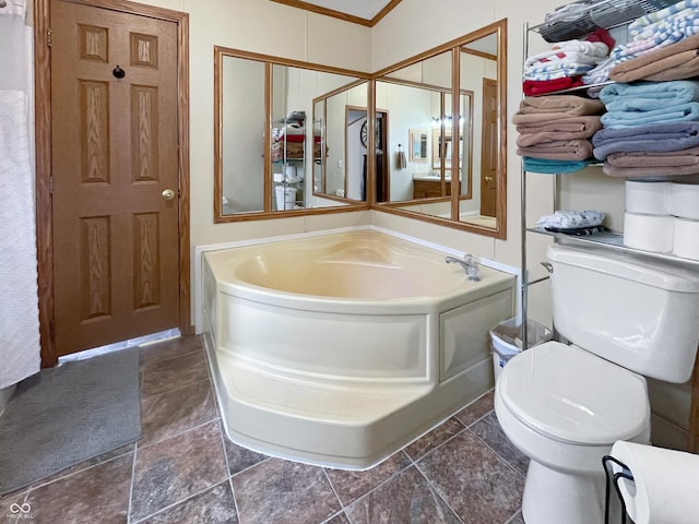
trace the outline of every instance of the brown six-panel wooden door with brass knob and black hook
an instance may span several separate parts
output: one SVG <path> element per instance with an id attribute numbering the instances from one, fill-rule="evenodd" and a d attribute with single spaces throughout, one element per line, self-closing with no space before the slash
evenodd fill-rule
<path id="1" fill-rule="evenodd" d="M 178 326 L 178 40 L 173 22 L 50 10 L 59 356 Z"/>

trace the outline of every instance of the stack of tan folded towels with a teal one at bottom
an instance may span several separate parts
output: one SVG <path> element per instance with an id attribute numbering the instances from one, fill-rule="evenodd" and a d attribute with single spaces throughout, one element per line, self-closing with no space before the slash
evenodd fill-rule
<path id="1" fill-rule="evenodd" d="M 590 138 L 601 129 L 603 111 L 600 100 L 580 96 L 526 97 L 512 117 L 520 133 L 517 154 L 525 157 L 528 170 L 553 172 L 554 167 L 558 172 L 579 170 L 592 159 Z M 547 160 L 555 166 L 548 166 Z"/>

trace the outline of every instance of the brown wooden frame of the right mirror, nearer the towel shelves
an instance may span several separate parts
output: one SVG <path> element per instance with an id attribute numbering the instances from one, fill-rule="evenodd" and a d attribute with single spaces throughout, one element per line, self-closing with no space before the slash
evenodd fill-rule
<path id="1" fill-rule="evenodd" d="M 460 96 L 461 93 L 461 52 L 463 46 L 472 41 L 484 38 L 490 34 L 495 34 L 497 38 L 498 56 L 497 56 L 497 75 L 498 75 L 498 134 L 497 134 L 497 150 L 498 150 L 498 169 L 496 175 L 497 183 L 497 221 L 495 227 L 487 227 L 479 224 L 467 223 L 459 221 L 459 202 L 461 196 L 458 190 L 459 174 L 458 174 L 458 158 L 459 147 L 452 147 L 452 160 L 451 160 L 451 183 L 452 191 L 451 196 L 446 198 L 451 201 L 451 217 L 445 218 L 441 216 L 429 215 L 420 213 L 418 211 L 401 209 L 401 206 L 419 204 L 420 200 L 402 201 L 402 202 L 370 202 L 371 209 L 383 211 L 387 213 L 406 216 L 423 222 L 429 222 L 441 226 L 462 229 L 470 233 L 476 233 L 487 237 L 506 239 L 507 238 L 507 19 L 499 20 L 484 27 L 481 27 L 473 33 L 455 38 L 451 41 L 442 44 L 427 51 L 424 51 L 415 57 L 403 60 L 396 64 L 386 68 L 374 74 L 374 82 L 377 80 L 386 80 L 388 82 L 395 82 L 394 79 L 386 76 L 389 73 L 406 68 L 414 63 L 420 62 L 425 59 L 442 53 L 445 51 L 451 51 L 452 53 L 452 85 L 451 85 L 451 114 L 459 115 Z M 371 105 L 376 105 L 376 88 L 370 91 L 372 99 Z M 453 119 L 451 128 L 451 136 L 457 136 L 457 142 L 460 138 L 459 119 Z M 469 193 L 471 190 L 471 178 L 469 177 Z"/>

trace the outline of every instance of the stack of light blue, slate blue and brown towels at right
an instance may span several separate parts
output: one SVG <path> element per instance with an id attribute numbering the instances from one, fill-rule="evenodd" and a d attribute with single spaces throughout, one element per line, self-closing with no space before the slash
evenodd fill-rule
<path id="1" fill-rule="evenodd" d="M 640 82 L 605 86 L 604 129 L 594 156 L 613 177 L 699 175 L 699 82 Z"/>

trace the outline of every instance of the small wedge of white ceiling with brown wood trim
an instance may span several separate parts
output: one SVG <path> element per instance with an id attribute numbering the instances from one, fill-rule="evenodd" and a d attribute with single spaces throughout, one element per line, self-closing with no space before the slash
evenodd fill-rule
<path id="1" fill-rule="evenodd" d="M 372 27 L 401 0 L 272 0 L 294 8 Z"/>

